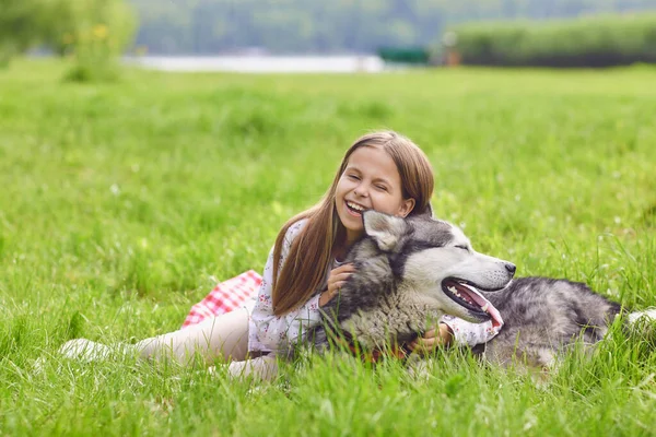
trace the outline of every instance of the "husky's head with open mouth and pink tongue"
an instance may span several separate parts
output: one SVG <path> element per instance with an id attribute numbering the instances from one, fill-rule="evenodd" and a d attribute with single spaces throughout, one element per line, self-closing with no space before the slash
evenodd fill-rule
<path id="1" fill-rule="evenodd" d="M 478 253 L 458 227 L 429 214 L 400 218 L 367 211 L 363 220 L 400 286 L 418 294 L 423 305 L 471 322 L 501 321 L 479 291 L 506 287 L 515 265 Z"/>

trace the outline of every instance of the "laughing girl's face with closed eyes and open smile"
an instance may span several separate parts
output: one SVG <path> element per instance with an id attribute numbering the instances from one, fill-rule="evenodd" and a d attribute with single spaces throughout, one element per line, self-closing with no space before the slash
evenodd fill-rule
<path id="1" fill-rule="evenodd" d="M 335 206 L 350 246 L 364 232 L 362 212 L 376 210 L 405 217 L 414 199 L 403 199 L 401 176 L 391 156 L 378 147 L 361 146 L 349 156 L 337 184 Z"/>

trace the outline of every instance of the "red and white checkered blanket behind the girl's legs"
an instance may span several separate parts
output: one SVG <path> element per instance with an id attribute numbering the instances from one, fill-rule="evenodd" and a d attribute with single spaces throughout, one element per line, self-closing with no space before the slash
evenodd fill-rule
<path id="1" fill-rule="evenodd" d="M 183 328 L 199 323 L 208 317 L 241 308 L 257 294 L 261 282 L 262 276 L 255 270 L 249 270 L 220 283 L 201 302 L 191 307 Z"/>

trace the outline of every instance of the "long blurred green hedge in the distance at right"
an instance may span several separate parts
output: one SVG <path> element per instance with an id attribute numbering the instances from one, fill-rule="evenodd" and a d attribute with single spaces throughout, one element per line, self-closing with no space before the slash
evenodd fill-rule
<path id="1" fill-rule="evenodd" d="M 608 67 L 656 62 L 656 14 L 467 24 L 454 32 L 456 50 L 466 64 Z"/>

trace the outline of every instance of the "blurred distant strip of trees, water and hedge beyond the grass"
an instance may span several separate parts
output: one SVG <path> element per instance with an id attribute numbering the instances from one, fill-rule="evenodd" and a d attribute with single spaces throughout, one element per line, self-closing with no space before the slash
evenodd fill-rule
<path id="1" fill-rule="evenodd" d="M 0 0 L 0 63 L 21 54 L 110 76 L 165 70 L 608 67 L 656 60 L 656 0 Z M 103 74 L 105 71 L 105 74 Z"/>

